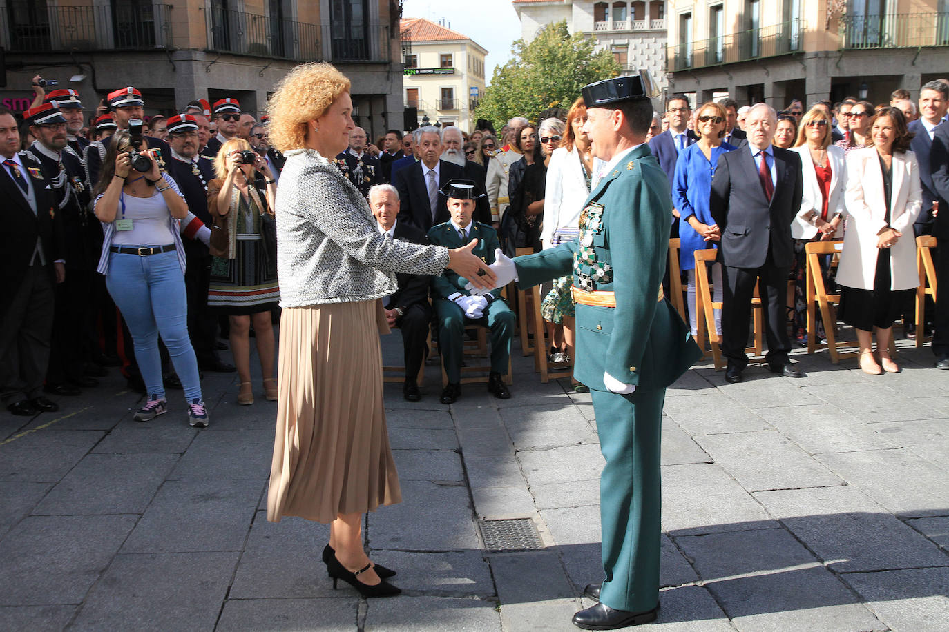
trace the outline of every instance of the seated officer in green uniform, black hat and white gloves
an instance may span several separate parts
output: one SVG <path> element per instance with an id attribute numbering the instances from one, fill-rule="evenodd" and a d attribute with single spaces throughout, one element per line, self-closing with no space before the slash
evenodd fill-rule
<path id="1" fill-rule="evenodd" d="M 501 244 L 497 232 L 485 224 L 472 221 L 475 200 L 482 195 L 473 180 L 455 179 L 438 191 L 448 198 L 448 212 L 452 219 L 444 224 L 432 226 L 428 240 L 432 244 L 456 248 L 474 239 L 474 255 L 486 263 L 493 263 Z M 442 362 L 448 374 L 448 385 L 441 393 L 441 403 L 451 404 L 461 394 L 461 357 L 464 344 L 465 325 L 478 323 L 491 330 L 491 373 L 488 390 L 498 399 L 508 399 L 511 391 L 504 386 L 501 374 L 508 370 L 511 357 L 511 335 L 514 331 L 514 314 L 500 298 L 500 289 L 483 297 L 472 296 L 465 285 L 467 279 L 454 271 L 432 282 L 432 297 L 438 322 L 438 341 L 441 345 Z"/>

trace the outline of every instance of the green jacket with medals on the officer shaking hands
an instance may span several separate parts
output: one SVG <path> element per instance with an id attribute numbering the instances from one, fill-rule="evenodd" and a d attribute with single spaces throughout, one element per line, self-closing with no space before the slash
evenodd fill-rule
<path id="1" fill-rule="evenodd" d="M 573 275 L 573 285 L 615 293 L 616 307 L 577 304 L 575 377 L 605 390 L 604 372 L 638 388 L 665 388 L 701 357 L 679 313 L 657 300 L 669 250 L 672 196 L 642 144 L 604 175 L 580 216 L 580 237 L 517 257 L 522 288 Z"/>

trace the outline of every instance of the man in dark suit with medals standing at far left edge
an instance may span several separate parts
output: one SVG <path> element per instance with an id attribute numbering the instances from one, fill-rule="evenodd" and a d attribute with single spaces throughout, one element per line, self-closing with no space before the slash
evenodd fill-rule
<path id="1" fill-rule="evenodd" d="M 0 108 L 0 399 L 14 415 L 58 410 L 41 394 L 56 282 L 65 280 L 62 222 L 42 165 L 17 153 L 13 113 Z"/>

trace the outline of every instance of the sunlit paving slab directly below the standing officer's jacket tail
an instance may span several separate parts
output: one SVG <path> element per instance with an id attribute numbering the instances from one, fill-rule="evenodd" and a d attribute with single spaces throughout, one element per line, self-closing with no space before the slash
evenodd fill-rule
<path id="1" fill-rule="evenodd" d="M 665 401 L 665 414 L 690 435 L 766 430 L 771 426 L 747 406 L 719 390 Z"/>

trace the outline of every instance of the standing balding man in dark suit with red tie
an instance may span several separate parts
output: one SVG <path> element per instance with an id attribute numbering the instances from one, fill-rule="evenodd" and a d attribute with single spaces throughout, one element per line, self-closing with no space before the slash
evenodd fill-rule
<path id="1" fill-rule="evenodd" d="M 788 352 L 788 273 L 794 261 L 791 222 L 801 208 L 800 156 L 774 147 L 777 116 L 758 103 L 748 113 L 748 144 L 718 158 L 710 211 L 721 230 L 725 300 L 721 348 L 728 358 L 725 380 L 740 382 L 748 365 L 745 345 L 754 284 L 760 280 L 767 309 L 768 365 L 786 377 L 804 377 Z"/>

